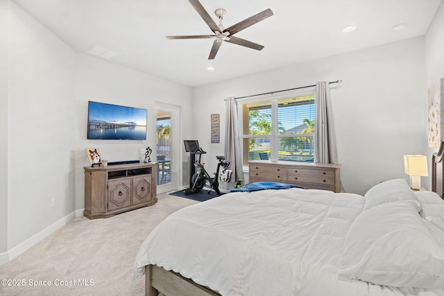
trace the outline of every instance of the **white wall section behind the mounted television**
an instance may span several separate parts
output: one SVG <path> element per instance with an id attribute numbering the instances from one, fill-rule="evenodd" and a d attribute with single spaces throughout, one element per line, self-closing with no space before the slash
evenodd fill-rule
<path id="1" fill-rule="evenodd" d="M 174 128 L 186 134 L 191 130 L 191 89 L 81 53 L 76 61 L 76 209 L 83 209 L 83 166 L 89 165 L 85 148 L 98 147 L 109 162 L 139 159 L 141 148 L 155 148 L 156 101 L 180 106 L 185 115 L 182 124 Z M 147 109 L 146 141 L 87 140 L 88 101 Z M 178 144 L 182 150 L 182 143 Z"/>

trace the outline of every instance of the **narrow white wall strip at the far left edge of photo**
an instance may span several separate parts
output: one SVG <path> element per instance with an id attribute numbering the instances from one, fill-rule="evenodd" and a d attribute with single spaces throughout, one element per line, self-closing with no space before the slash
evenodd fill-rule
<path id="1" fill-rule="evenodd" d="M 0 0 L 0 264 L 8 250 L 8 0 Z"/>

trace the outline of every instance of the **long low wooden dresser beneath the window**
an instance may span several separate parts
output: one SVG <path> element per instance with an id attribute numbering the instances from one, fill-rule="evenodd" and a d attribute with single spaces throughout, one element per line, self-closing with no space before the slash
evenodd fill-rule
<path id="1" fill-rule="evenodd" d="M 255 160 L 250 166 L 249 182 L 275 181 L 309 189 L 341 192 L 340 164 L 313 164 L 307 162 L 271 162 Z"/>

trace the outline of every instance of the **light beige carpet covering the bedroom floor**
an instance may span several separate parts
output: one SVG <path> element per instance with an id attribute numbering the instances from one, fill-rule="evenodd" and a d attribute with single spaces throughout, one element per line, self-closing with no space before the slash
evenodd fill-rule
<path id="1" fill-rule="evenodd" d="M 24 280 L 24 286 L 0 285 L 0 295 L 144 295 L 145 279 L 132 279 L 140 245 L 167 216 L 198 203 L 168 194 L 157 199 L 151 207 L 111 218 L 75 218 L 0 265 L 0 279 Z M 35 281 L 51 286 L 33 287 Z"/>

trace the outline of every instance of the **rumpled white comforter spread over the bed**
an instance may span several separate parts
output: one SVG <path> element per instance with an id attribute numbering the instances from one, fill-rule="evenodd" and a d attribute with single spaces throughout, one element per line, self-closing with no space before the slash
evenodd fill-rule
<path id="1" fill-rule="evenodd" d="M 133 275 L 155 264 L 222 295 L 436 295 L 338 278 L 345 234 L 363 207 L 351 193 L 229 193 L 164 220 L 140 248 Z"/>

